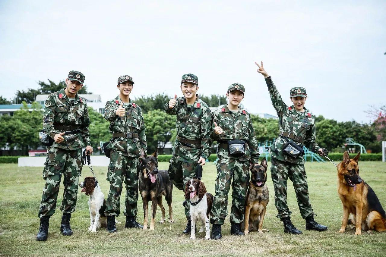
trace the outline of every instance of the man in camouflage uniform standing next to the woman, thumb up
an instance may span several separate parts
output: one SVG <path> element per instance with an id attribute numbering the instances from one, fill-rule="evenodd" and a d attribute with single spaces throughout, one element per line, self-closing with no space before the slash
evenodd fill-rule
<path id="1" fill-rule="evenodd" d="M 240 223 L 244 220 L 245 197 L 250 178 L 249 162 L 257 164 L 260 156 L 251 115 L 239 108 L 244 98 L 244 86 L 238 83 L 231 84 L 227 92 L 229 103 L 212 113 L 213 130 L 209 134 L 210 140 L 219 143 L 215 197 L 210 213 L 210 222 L 213 224 L 212 239 L 222 237 L 221 225 L 224 224 L 225 217 L 228 215 L 228 193 L 231 185 L 233 192 L 230 232 L 234 235 L 244 235 L 240 229 Z M 234 139 L 243 141 L 244 155 L 230 154 L 228 142 Z"/>

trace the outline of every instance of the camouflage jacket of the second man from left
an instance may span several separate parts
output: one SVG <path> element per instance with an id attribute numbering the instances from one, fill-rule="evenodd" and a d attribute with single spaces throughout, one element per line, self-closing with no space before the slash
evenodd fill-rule
<path id="1" fill-rule="evenodd" d="M 112 137 L 110 144 L 106 148 L 120 152 L 120 154 L 129 157 L 139 157 L 141 147 L 147 149 L 146 135 L 145 135 L 145 123 L 142 117 L 142 109 L 130 99 L 129 107 L 126 107 L 126 116 L 118 117 L 115 111 L 122 103 L 119 96 L 106 103 L 105 107 L 105 119 L 110 122 L 108 130 L 111 134 L 113 132 L 137 133 L 139 138 L 124 138 L 124 137 Z"/>

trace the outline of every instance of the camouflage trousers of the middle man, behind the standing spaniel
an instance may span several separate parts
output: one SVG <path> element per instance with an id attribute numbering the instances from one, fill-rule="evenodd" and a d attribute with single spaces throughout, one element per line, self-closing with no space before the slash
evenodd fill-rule
<path id="1" fill-rule="evenodd" d="M 185 185 L 192 178 L 197 178 L 198 163 L 181 162 L 176 160 L 175 157 L 171 157 L 169 161 L 169 177 L 179 190 L 184 191 Z M 185 216 L 190 220 L 190 199 L 186 199 Z"/>

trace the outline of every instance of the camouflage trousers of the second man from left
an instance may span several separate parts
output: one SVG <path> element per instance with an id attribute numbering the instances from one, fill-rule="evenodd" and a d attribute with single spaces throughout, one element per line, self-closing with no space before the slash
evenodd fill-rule
<path id="1" fill-rule="evenodd" d="M 138 171 L 139 158 L 123 156 L 111 150 L 110 164 L 108 165 L 107 181 L 110 182 L 110 191 L 106 201 L 106 216 L 119 216 L 120 196 L 125 182 L 125 216 L 137 215 L 138 201 Z"/>

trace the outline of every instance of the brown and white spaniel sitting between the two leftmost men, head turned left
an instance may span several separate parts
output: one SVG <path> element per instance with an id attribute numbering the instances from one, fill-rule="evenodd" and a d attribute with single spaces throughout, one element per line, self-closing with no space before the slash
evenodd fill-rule
<path id="1" fill-rule="evenodd" d="M 97 228 L 106 227 L 107 217 L 105 215 L 106 200 L 100 189 L 98 181 L 94 177 L 86 177 L 82 183 L 79 183 L 82 192 L 90 196 L 88 208 L 90 209 L 90 227 L 88 231 L 97 232 Z M 115 220 L 115 223 L 120 223 Z"/>

